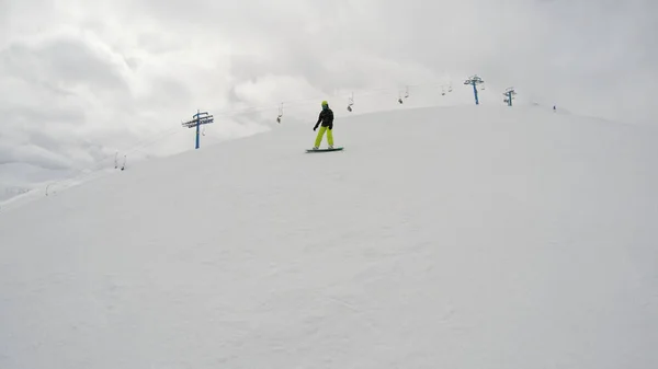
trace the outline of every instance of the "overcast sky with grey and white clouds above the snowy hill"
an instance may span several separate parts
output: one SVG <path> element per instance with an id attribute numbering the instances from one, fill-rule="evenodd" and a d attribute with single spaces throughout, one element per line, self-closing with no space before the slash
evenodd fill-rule
<path id="1" fill-rule="evenodd" d="M 655 0 L 0 0 L 0 186 L 162 136 L 189 148 L 196 108 L 276 113 L 446 76 L 651 124 L 656 14 Z M 231 119 L 215 129 L 260 127 Z"/>

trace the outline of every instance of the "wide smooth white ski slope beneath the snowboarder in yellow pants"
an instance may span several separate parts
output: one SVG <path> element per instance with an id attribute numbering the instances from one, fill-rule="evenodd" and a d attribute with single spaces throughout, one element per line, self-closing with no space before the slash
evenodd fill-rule
<path id="1" fill-rule="evenodd" d="M 0 212 L 0 368 L 658 368 L 654 132 L 426 107 L 307 154 L 311 127 Z"/>

